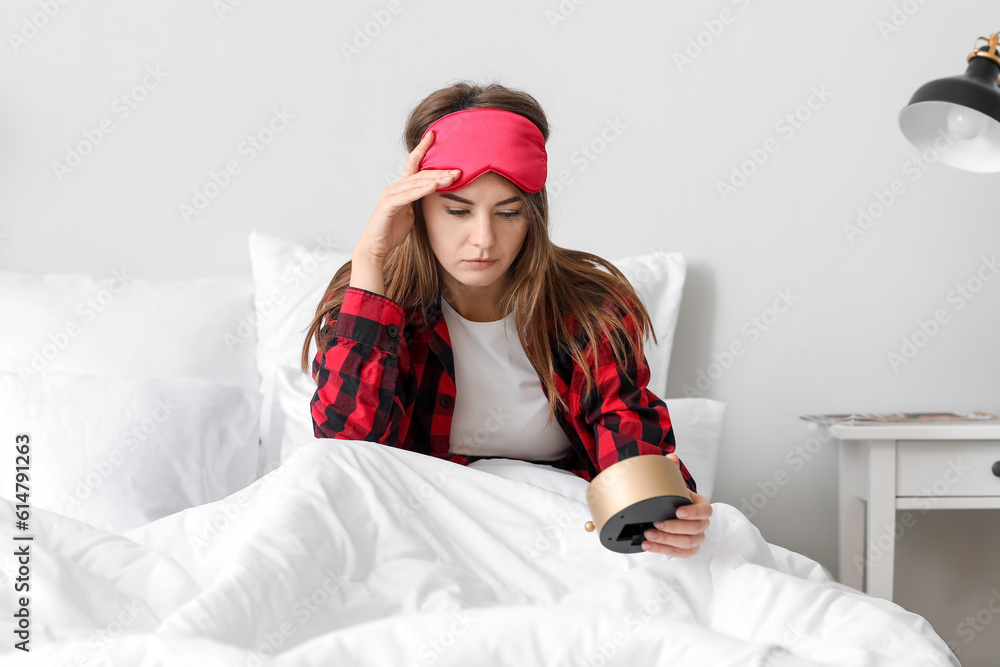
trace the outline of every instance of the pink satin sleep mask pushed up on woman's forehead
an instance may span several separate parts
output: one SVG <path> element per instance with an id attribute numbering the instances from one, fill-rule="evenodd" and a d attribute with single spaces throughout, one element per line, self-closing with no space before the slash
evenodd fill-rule
<path id="1" fill-rule="evenodd" d="M 438 118 L 427 128 L 431 130 L 434 143 L 418 170 L 462 170 L 456 181 L 437 192 L 464 188 L 487 171 L 506 176 L 527 192 L 545 187 L 545 139 L 524 116 L 504 109 L 463 109 Z"/>

